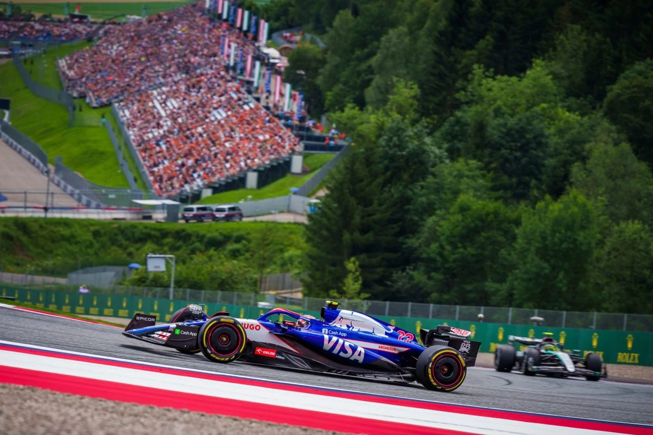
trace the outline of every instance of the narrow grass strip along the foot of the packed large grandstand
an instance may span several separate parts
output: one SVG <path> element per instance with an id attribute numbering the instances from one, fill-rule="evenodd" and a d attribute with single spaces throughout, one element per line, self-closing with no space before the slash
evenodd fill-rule
<path id="1" fill-rule="evenodd" d="M 306 175 L 293 175 L 287 174 L 285 177 L 278 179 L 274 183 L 262 187 L 260 189 L 238 189 L 223 192 L 200 200 L 200 204 L 221 204 L 221 203 L 236 203 L 240 200 L 247 200 L 247 196 L 251 195 L 251 200 L 264 200 L 266 198 L 276 198 L 290 194 L 291 187 L 300 187 L 310 177 L 312 177 L 319 168 L 331 160 L 334 154 L 309 154 L 304 155 L 304 164 L 311 170 Z"/>

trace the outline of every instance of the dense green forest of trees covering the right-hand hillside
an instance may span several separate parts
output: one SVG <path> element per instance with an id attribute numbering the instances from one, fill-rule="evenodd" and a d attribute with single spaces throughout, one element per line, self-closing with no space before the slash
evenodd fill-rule
<path id="1" fill-rule="evenodd" d="M 306 295 L 355 260 L 370 299 L 653 314 L 648 0 L 266 8 L 322 34 L 286 80 L 355 142 L 306 228 Z"/>

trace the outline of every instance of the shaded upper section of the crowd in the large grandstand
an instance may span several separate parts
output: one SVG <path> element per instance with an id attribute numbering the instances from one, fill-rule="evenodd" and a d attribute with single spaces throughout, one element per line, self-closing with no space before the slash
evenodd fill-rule
<path id="1" fill-rule="evenodd" d="M 93 48 L 65 57 L 61 71 L 71 93 L 104 106 L 221 61 L 219 35 L 255 50 L 240 31 L 210 22 L 195 4 L 109 29 Z"/>

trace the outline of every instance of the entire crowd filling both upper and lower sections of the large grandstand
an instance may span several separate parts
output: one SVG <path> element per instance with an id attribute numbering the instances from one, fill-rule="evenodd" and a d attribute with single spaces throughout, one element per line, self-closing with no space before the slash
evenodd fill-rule
<path id="1" fill-rule="evenodd" d="M 69 92 L 116 103 L 155 193 L 170 197 L 300 150 L 225 65 L 224 41 L 244 57 L 255 42 L 211 22 L 199 3 L 108 29 L 59 63 Z"/>

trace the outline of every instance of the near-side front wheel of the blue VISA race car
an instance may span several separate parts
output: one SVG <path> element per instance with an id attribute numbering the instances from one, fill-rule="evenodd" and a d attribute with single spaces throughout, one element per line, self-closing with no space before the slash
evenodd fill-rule
<path id="1" fill-rule="evenodd" d="M 198 339 L 204 356 L 215 363 L 236 361 L 247 344 L 245 329 L 230 316 L 210 318 L 200 328 Z"/>

